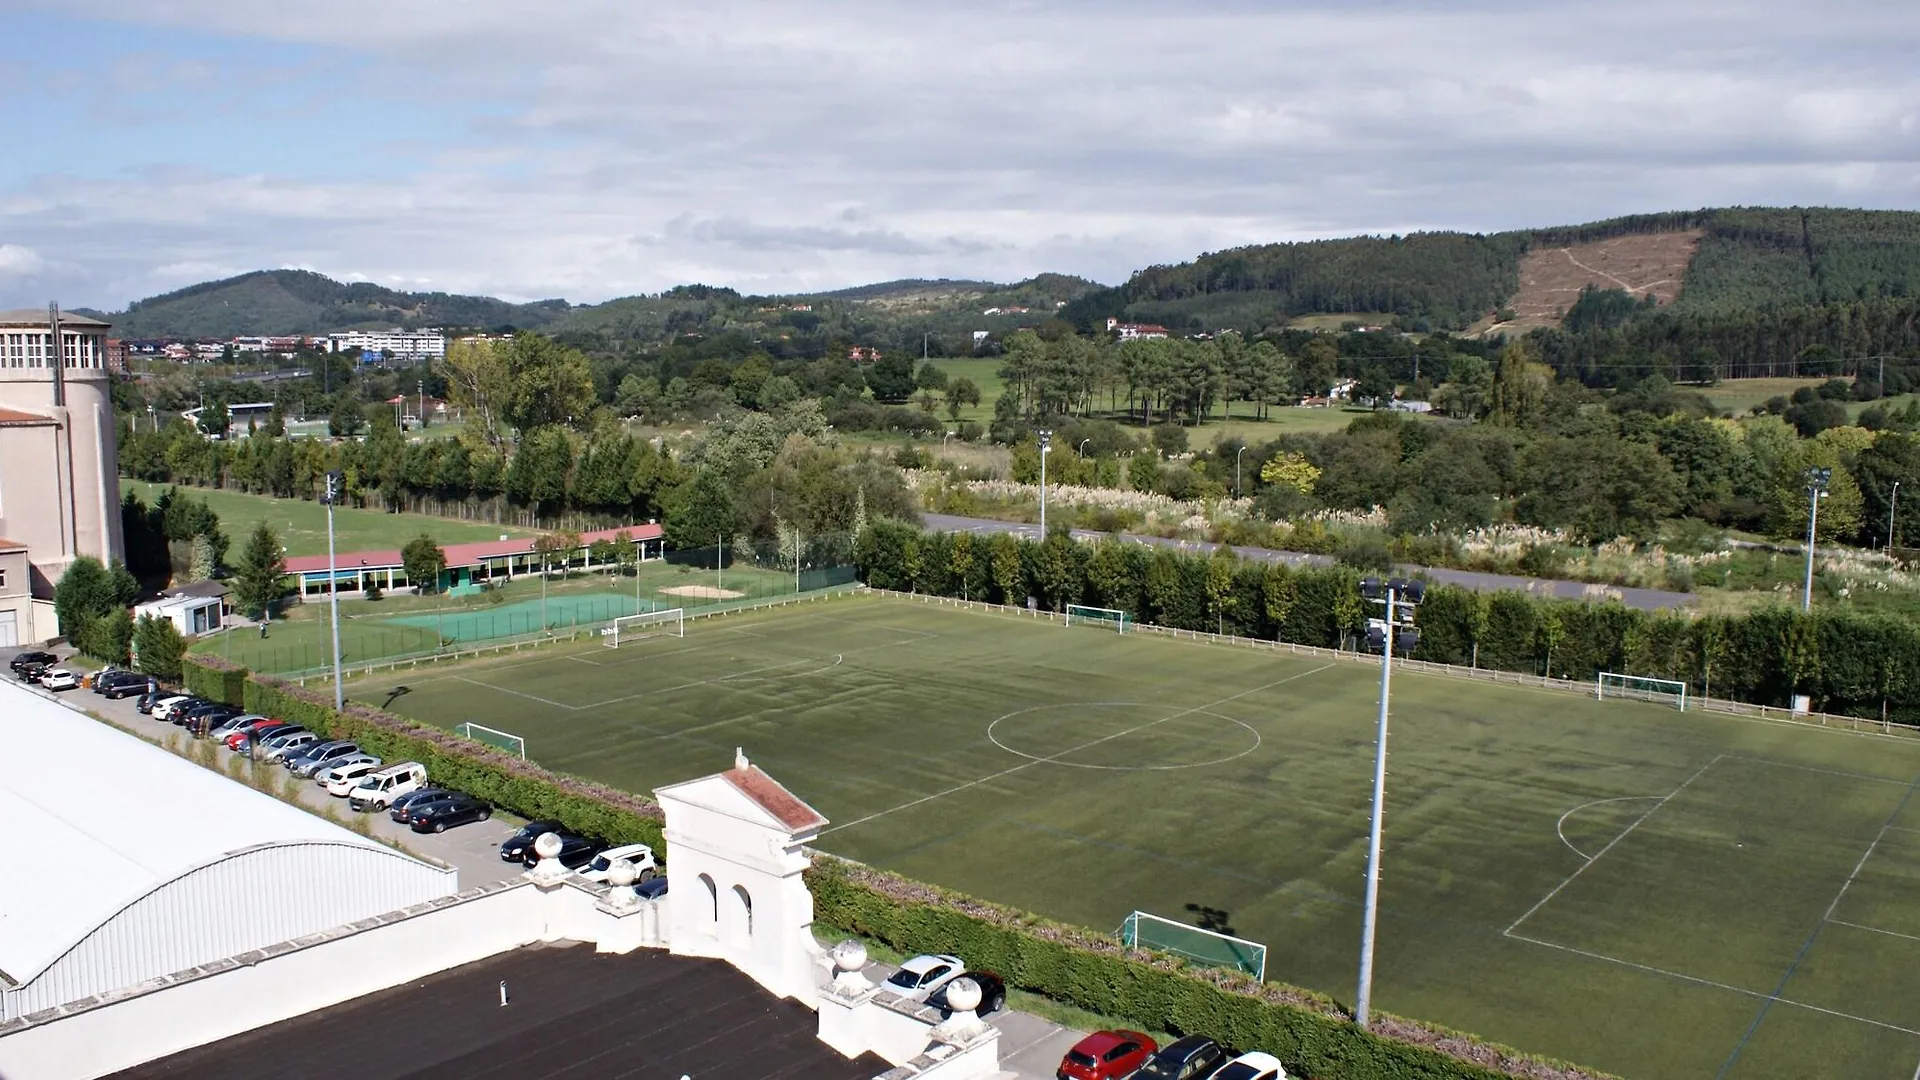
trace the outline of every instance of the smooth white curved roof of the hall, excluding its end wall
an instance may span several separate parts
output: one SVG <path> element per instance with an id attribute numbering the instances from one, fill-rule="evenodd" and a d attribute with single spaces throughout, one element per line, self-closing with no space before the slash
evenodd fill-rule
<path id="1" fill-rule="evenodd" d="M 380 844 L 0 682 L 0 972 L 25 984 L 157 886 L 236 851 Z"/>

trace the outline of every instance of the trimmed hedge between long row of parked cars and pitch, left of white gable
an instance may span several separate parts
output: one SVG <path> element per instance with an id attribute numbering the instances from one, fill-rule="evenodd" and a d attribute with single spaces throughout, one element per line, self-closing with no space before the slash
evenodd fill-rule
<path id="1" fill-rule="evenodd" d="M 330 694 L 250 675 L 221 657 L 190 655 L 182 673 L 192 694 L 292 721 L 326 738 L 351 738 L 386 761 L 419 761 L 426 765 L 434 784 L 467 792 L 526 819 L 559 821 L 582 836 L 599 836 L 612 844 L 647 844 L 657 859 L 666 861 L 666 838 L 660 832 L 664 819 L 653 799 L 551 773 L 445 728 L 353 701 L 338 713 Z"/>

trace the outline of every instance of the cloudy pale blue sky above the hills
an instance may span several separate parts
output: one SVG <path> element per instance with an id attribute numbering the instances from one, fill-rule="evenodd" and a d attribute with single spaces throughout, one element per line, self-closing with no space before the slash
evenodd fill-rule
<path id="1" fill-rule="evenodd" d="M 1920 208 L 1905 4 L 0 0 L 0 307 L 601 302 Z"/>

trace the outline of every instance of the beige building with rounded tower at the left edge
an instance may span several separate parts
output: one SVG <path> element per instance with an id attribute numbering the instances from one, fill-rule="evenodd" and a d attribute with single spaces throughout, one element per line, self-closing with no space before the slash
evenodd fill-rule
<path id="1" fill-rule="evenodd" d="M 0 536 L 25 548 L 25 594 L 40 601 L 73 559 L 125 557 L 108 325 L 58 323 L 56 350 L 50 311 L 0 311 Z M 17 588 L 12 577 L 0 609 Z M 15 619 L 17 644 L 58 636 L 52 607 L 40 607 L 38 619 Z"/>

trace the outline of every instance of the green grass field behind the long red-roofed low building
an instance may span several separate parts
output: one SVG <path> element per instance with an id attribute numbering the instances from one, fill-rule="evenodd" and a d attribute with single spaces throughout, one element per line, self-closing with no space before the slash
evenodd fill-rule
<path id="1" fill-rule="evenodd" d="M 121 494 L 134 492 L 148 505 L 159 498 L 167 484 L 148 484 L 144 480 L 121 480 Z M 280 534 L 280 544 L 288 555 L 326 553 L 326 507 L 307 500 L 276 500 L 271 496 L 252 496 L 213 488 L 180 486 L 196 500 L 207 500 L 213 513 L 221 515 L 221 528 L 232 540 L 238 555 L 246 538 L 259 521 L 273 525 Z M 367 552 L 401 548 L 420 532 L 430 532 L 434 540 L 445 544 L 467 544 L 474 540 L 499 540 L 505 536 L 534 536 L 532 528 L 507 525 L 484 525 L 476 521 L 455 521 L 447 517 L 426 517 L 419 513 L 384 513 L 378 509 L 342 507 L 334 511 L 334 546 L 340 552 Z"/>

